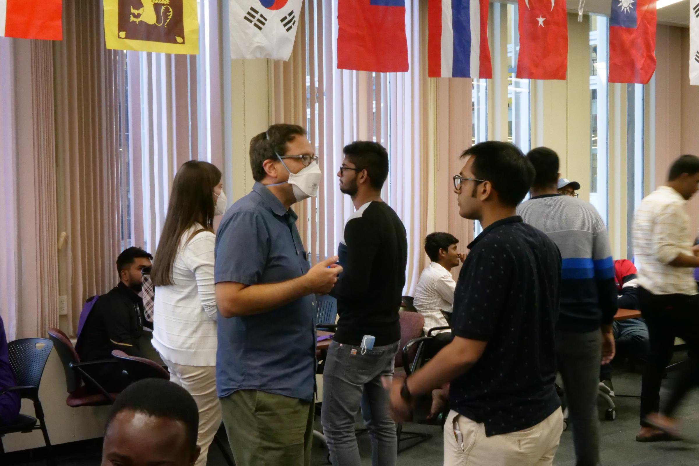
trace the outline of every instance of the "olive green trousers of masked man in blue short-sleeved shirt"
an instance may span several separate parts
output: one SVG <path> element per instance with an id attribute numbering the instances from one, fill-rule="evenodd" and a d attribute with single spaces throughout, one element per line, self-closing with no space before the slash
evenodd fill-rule
<path id="1" fill-rule="evenodd" d="M 310 466 L 312 402 L 258 390 L 219 401 L 236 466 Z"/>

